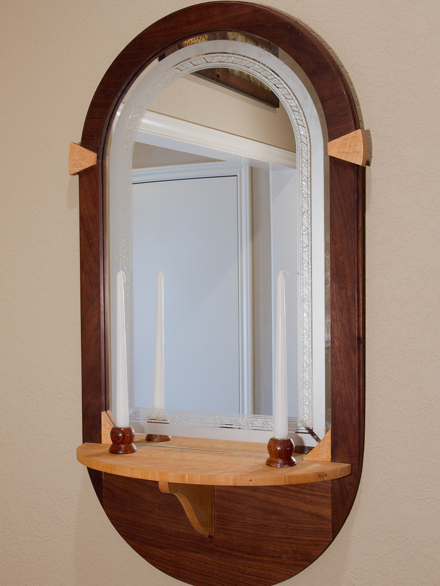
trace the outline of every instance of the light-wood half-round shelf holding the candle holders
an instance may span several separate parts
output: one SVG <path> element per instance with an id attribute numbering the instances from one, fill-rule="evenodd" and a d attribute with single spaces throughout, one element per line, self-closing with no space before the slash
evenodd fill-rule
<path id="1" fill-rule="evenodd" d="M 119 458 L 106 444 L 82 444 L 77 459 L 88 468 L 144 480 L 215 486 L 274 486 L 322 482 L 351 473 L 350 464 L 300 460 L 289 468 L 270 468 L 255 454 L 139 446 Z"/>

